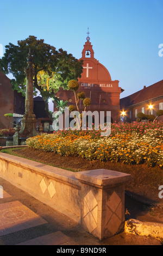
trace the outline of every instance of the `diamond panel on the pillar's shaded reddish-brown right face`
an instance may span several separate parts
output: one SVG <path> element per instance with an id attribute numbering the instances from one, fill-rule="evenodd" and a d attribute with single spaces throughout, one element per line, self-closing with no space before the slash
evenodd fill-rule
<path id="1" fill-rule="evenodd" d="M 106 202 L 106 229 L 115 234 L 122 223 L 122 201 L 114 191 Z"/>

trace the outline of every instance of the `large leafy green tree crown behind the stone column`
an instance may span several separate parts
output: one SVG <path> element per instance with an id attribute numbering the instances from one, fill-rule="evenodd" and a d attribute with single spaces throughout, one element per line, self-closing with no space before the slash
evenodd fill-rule
<path id="1" fill-rule="evenodd" d="M 12 74 L 12 89 L 26 93 L 27 56 L 29 48 L 33 54 L 34 95 L 39 90 L 45 101 L 45 110 L 50 118 L 52 112 L 48 110 L 48 99 L 54 99 L 59 87 L 68 89 L 68 81 L 81 77 L 83 60 L 78 60 L 61 48 L 57 51 L 54 46 L 46 44 L 43 39 L 29 35 L 25 40 L 17 41 L 17 45 L 9 43 L 5 46 L 4 57 L 0 62 L 0 69 L 4 74 Z"/>

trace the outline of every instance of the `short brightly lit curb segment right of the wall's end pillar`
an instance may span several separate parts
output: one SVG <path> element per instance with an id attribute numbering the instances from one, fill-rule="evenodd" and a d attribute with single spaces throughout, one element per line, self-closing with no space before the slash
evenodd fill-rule
<path id="1" fill-rule="evenodd" d="M 155 222 L 141 222 L 130 219 L 124 222 L 124 232 L 127 234 L 153 237 L 163 240 L 163 224 Z"/>

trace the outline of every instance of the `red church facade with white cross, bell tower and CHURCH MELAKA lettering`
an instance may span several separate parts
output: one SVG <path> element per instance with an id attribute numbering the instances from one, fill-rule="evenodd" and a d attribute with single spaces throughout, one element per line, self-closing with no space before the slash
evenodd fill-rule
<path id="1" fill-rule="evenodd" d="M 91 105 L 86 108 L 86 111 L 111 111 L 111 122 L 120 121 L 120 94 L 123 92 L 121 87 L 118 87 L 118 80 L 111 81 L 109 71 L 94 58 L 94 51 L 90 42 L 90 37 L 87 36 L 84 49 L 82 51 L 83 73 L 82 77 L 78 78 L 79 89 L 77 92 L 84 92 L 85 97 L 91 99 Z M 60 100 L 68 101 L 70 105 L 76 106 L 74 93 L 71 90 L 59 89 L 56 95 Z M 84 111 L 82 100 L 79 100 L 79 109 Z M 54 111 L 56 109 L 54 108 Z"/>

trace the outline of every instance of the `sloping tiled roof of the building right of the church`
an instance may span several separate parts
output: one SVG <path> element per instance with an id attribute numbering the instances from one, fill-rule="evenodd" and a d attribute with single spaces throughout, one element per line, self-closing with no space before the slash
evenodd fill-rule
<path id="1" fill-rule="evenodd" d="M 152 86 L 144 87 L 142 90 L 122 98 L 120 100 L 120 105 L 121 108 L 126 108 L 128 106 L 151 100 L 159 96 L 163 96 L 163 80 L 152 84 Z"/>

